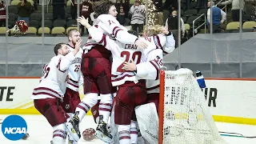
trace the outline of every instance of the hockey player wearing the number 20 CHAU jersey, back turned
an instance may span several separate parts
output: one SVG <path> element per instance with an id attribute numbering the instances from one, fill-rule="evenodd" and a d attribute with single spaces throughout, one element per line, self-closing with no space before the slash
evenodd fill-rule
<path id="1" fill-rule="evenodd" d="M 88 28 L 89 33 L 96 42 L 101 43 L 106 49 L 111 50 L 113 55 L 112 64 L 112 85 L 118 86 L 117 96 L 114 102 L 114 122 L 118 125 L 118 135 L 120 143 L 130 143 L 130 121 L 134 116 L 134 107 L 142 105 L 146 102 L 145 81 L 137 80 L 133 71 L 123 70 L 123 62 L 129 62 L 132 59 L 135 63 L 139 63 L 141 58 L 146 58 L 146 54 L 150 50 L 156 49 L 155 42 L 158 42 L 158 48 L 165 43 L 158 41 L 159 37 L 146 39 L 147 49 L 138 49 L 137 46 L 131 44 L 122 44 L 114 41 L 106 34 L 101 34 L 97 26 L 90 26 L 88 22 L 81 22 Z M 168 32 L 169 33 L 169 32 Z M 166 38 L 166 36 L 165 36 Z M 154 46 L 153 46 L 154 45 Z M 158 66 L 159 62 L 154 61 L 151 67 Z"/>

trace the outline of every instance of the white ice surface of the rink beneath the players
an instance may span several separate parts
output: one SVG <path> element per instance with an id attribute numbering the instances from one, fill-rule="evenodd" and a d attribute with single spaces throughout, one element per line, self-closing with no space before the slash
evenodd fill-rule
<path id="1" fill-rule="evenodd" d="M 0 115 L 0 119 L 6 118 L 8 115 Z M 0 130 L 0 144 L 50 144 L 50 140 L 52 138 L 53 129 L 50 124 L 46 121 L 42 115 L 20 115 L 24 118 L 28 125 L 28 133 L 30 134 L 30 138 L 27 140 L 18 140 L 18 141 L 10 141 L 4 137 L 2 134 L 2 129 Z M 230 124 L 230 123 L 222 123 L 216 122 L 219 131 L 226 131 L 232 133 L 239 133 L 246 136 L 256 136 L 256 126 L 249 125 L 238 125 L 238 124 Z M 80 130 L 83 131 L 86 128 L 96 128 L 96 124 L 94 123 L 94 119 L 92 116 L 86 116 L 81 124 Z M 230 136 L 223 136 L 226 139 L 226 142 L 229 144 L 256 144 L 256 138 L 237 138 Z M 82 138 L 79 140 L 79 144 L 83 143 L 94 143 L 94 144 L 102 144 L 100 140 L 95 139 L 91 142 L 86 142 Z"/>

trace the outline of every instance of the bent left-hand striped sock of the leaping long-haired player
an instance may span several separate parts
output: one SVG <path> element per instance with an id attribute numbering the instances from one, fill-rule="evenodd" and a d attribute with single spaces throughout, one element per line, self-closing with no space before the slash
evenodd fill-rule
<path id="1" fill-rule="evenodd" d="M 89 94 L 86 94 L 84 98 L 82 98 L 82 102 L 80 102 L 78 107 L 75 109 L 76 112 L 77 111 L 79 112 L 79 114 L 78 114 L 79 122 L 82 121 L 82 118 L 85 117 L 86 113 L 97 102 L 98 102 L 98 94 L 97 93 L 89 93 Z"/>

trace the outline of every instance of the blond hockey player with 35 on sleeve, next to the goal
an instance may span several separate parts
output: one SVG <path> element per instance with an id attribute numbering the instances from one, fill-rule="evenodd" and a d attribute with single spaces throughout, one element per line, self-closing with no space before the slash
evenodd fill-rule
<path id="1" fill-rule="evenodd" d="M 163 39 L 162 34 L 166 34 L 166 43 L 165 41 L 161 42 Z M 151 36 L 151 37 L 150 37 Z M 153 38 L 152 38 L 153 37 Z M 134 61 L 124 62 L 124 69 L 134 71 L 134 73 L 138 76 L 138 79 L 146 79 L 146 103 L 154 102 L 156 106 L 156 110 L 158 112 L 158 99 L 159 99 L 159 71 L 162 67 L 162 58 L 163 53 L 168 54 L 175 49 L 175 41 L 173 35 L 165 29 L 162 29 L 162 26 L 152 26 L 150 28 L 149 37 L 145 37 L 147 39 L 152 38 L 156 39 L 157 43 L 155 43 L 156 47 L 159 47 L 156 50 L 151 50 L 148 54 L 146 54 L 146 58 L 144 62 L 136 65 Z M 159 43 L 158 43 L 159 42 Z M 154 63 L 158 62 L 159 66 Z M 132 121 L 131 126 L 131 142 L 137 143 L 138 136 L 140 135 L 140 130 L 138 128 L 138 122 Z M 143 138 L 139 138 L 138 142 L 142 142 Z M 143 142 L 142 142 L 143 143 Z"/>

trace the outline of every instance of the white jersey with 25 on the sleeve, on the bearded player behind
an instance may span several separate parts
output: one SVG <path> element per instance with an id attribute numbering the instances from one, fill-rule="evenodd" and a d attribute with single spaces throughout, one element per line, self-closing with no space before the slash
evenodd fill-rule
<path id="1" fill-rule="evenodd" d="M 74 50 L 74 47 L 70 45 L 67 46 L 71 52 Z M 74 91 L 78 91 L 79 86 L 81 86 L 83 83 L 83 77 L 81 73 L 82 53 L 83 50 L 80 48 L 68 69 L 69 79 L 67 81 L 67 87 Z"/>

